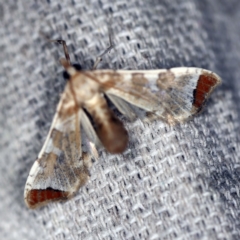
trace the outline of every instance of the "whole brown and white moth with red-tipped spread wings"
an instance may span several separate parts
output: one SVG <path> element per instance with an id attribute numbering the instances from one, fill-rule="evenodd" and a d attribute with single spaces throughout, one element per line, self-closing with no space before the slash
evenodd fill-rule
<path id="1" fill-rule="evenodd" d="M 89 179 L 96 148 L 112 154 L 127 148 L 128 133 L 109 101 L 130 120 L 176 124 L 196 115 L 221 83 L 217 74 L 201 68 L 82 71 L 71 64 L 65 41 L 52 41 L 63 46 L 60 61 L 68 81 L 27 178 L 24 199 L 32 209 L 71 198 Z"/>

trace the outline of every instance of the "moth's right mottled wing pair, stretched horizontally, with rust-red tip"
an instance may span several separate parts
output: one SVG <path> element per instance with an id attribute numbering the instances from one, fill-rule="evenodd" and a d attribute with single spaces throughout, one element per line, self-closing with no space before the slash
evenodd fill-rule
<path id="1" fill-rule="evenodd" d="M 133 119 L 133 106 L 169 124 L 183 122 L 198 113 L 214 88 L 221 83 L 215 73 L 201 68 L 112 71 L 96 70 L 103 92 L 120 112 Z M 138 114 L 137 114 L 138 115 Z"/>

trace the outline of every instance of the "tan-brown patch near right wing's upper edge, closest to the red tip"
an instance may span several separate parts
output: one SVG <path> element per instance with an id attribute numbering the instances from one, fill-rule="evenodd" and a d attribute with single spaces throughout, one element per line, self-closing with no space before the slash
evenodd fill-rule
<path id="1" fill-rule="evenodd" d="M 167 90 L 172 88 L 176 84 L 174 83 L 175 75 L 170 70 L 166 72 L 161 72 L 158 74 L 158 79 L 156 81 L 156 85 L 161 90 Z"/>

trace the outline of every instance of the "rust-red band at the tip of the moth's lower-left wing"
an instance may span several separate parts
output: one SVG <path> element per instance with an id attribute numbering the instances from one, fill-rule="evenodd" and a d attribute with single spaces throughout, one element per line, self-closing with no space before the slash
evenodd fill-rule
<path id="1" fill-rule="evenodd" d="M 53 188 L 32 189 L 27 193 L 25 200 L 29 208 L 36 208 L 51 201 L 67 200 L 68 195 L 68 192 Z"/>

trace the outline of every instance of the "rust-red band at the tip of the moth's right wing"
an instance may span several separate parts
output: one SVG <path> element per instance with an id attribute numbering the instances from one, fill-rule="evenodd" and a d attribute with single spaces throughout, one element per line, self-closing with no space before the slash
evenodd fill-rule
<path id="1" fill-rule="evenodd" d="M 213 91 L 218 82 L 219 80 L 213 74 L 201 74 L 197 87 L 193 92 L 193 106 L 201 110 L 208 95 Z"/>

